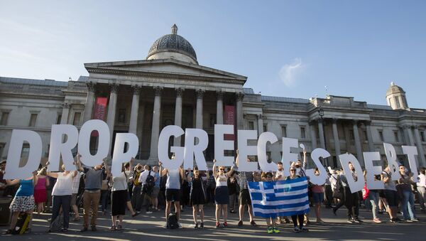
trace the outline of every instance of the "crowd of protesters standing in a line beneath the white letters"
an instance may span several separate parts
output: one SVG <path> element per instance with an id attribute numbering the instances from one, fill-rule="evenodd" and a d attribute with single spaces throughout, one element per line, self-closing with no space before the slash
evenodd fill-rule
<path id="1" fill-rule="evenodd" d="M 237 226 L 244 225 L 244 214 L 249 213 L 249 225 L 257 226 L 248 183 L 252 181 L 280 181 L 306 176 L 306 151 L 303 161 L 297 160 L 290 166 L 290 176 L 284 175 L 283 164 L 278 162 L 278 171 L 237 171 L 239 165 L 238 151 L 233 166 L 217 166 L 214 160 L 213 168 L 209 171 L 193 169 L 184 170 L 182 167 L 170 170 L 164 168 L 161 161 L 158 166 L 137 164 L 134 159 L 123 164 L 121 174 L 112 176 L 110 167 L 104 160 L 103 164 L 88 167 L 82 166 L 80 154 L 77 154 L 75 169 L 77 171 L 48 171 L 47 163 L 34 171 L 32 176 L 25 179 L 5 180 L 4 168 L 6 161 L 0 163 L 0 195 L 13 197 L 10 204 L 11 224 L 5 234 L 13 234 L 18 217 L 21 213 L 29 215 L 30 221 L 26 232 L 31 232 L 33 212 L 51 212 L 50 229 L 55 232 L 55 224 L 60 223 L 60 232 L 67 232 L 72 222 L 80 221 L 80 207 L 82 207 L 82 230 L 97 230 L 98 207 L 104 215 L 111 215 L 109 230 L 123 229 L 123 218 L 126 210 L 132 218 L 141 213 L 144 208 L 146 214 L 164 207 L 164 228 L 182 228 L 180 223 L 181 212 L 186 207 L 192 207 L 193 224 L 190 227 L 204 228 L 204 205 L 216 206 L 214 227 L 228 227 L 228 213 L 237 213 Z M 83 160 L 84 161 L 84 160 Z M 247 160 L 250 161 L 250 160 Z M 342 168 L 329 169 L 324 185 L 308 186 L 311 209 L 314 210 L 316 222 L 324 223 L 322 207 L 332 208 L 334 215 L 343 206 L 346 207 L 348 223 L 362 223 L 359 216 L 359 207 L 364 205 L 371 209 L 373 222 L 381 223 L 378 213 L 388 213 L 389 222 L 417 222 L 415 210 L 415 194 L 420 203 L 420 210 L 425 212 L 426 177 L 425 168 L 420 168 L 417 180 L 413 179 L 413 172 L 403 166 L 399 170 L 391 171 L 387 166 L 376 180 L 383 181 L 383 190 L 368 190 L 351 193 L 348 178 L 354 181 L 364 173 L 357 173 L 349 163 L 350 173 L 344 173 Z M 413 170 L 414 171 L 414 170 Z M 316 168 L 315 175 L 320 176 Z M 393 177 L 395 176 L 395 177 Z M 309 180 L 309 177 L 308 177 Z M 398 180 L 398 181 L 392 181 Z M 164 206 L 163 206 L 164 204 Z M 111 207 L 108 207 L 111 205 Z M 399 211 L 399 212 L 398 212 Z M 402 217 L 398 217 L 402 213 Z M 35 215 L 35 214 L 34 214 Z M 90 218 L 90 222 L 89 222 Z M 222 221 L 221 221 L 222 220 Z M 289 217 L 267 218 L 268 233 L 278 233 L 277 224 L 293 223 L 293 232 L 307 232 L 306 225 L 310 224 L 309 213 Z"/>

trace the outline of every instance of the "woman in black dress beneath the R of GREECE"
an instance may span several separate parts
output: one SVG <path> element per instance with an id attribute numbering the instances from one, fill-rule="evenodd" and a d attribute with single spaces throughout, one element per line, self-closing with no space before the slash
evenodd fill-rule
<path id="1" fill-rule="evenodd" d="M 204 186 L 202 186 L 202 179 L 200 177 L 200 171 L 197 167 L 194 168 L 194 178 L 192 178 L 190 200 L 192 205 L 192 216 L 194 217 L 195 228 L 204 228 L 204 209 L 205 203 L 205 192 Z M 197 213 L 200 212 L 201 223 L 200 226 L 197 222 Z"/>

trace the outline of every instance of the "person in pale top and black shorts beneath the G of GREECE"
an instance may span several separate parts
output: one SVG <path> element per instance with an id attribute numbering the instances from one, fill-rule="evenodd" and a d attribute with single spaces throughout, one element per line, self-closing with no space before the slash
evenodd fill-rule
<path id="1" fill-rule="evenodd" d="M 172 157 L 174 159 L 174 156 Z M 178 220 L 178 227 L 182 228 L 182 225 L 179 223 L 180 218 L 180 185 L 181 181 L 184 178 L 184 173 L 182 167 L 179 167 L 175 170 L 169 170 L 168 168 L 163 168 L 161 161 L 158 162 L 160 166 L 160 176 L 167 175 L 167 181 L 165 183 L 165 220 L 166 223 L 163 228 L 168 228 L 168 215 L 170 214 L 172 201 L 175 202 L 175 213 Z"/>

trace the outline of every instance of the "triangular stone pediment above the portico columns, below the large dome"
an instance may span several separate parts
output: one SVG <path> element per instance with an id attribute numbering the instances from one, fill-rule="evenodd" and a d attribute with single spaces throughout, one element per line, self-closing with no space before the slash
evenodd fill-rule
<path id="1" fill-rule="evenodd" d="M 89 71 L 102 69 L 104 71 L 130 71 L 136 73 L 189 75 L 197 77 L 212 77 L 214 79 L 247 80 L 247 77 L 236 75 L 202 65 L 194 65 L 180 60 L 133 60 L 109 63 L 86 63 L 84 67 Z"/>

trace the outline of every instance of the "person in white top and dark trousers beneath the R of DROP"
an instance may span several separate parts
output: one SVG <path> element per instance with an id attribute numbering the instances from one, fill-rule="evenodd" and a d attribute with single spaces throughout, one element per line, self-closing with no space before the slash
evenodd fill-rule
<path id="1" fill-rule="evenodd" d="M 49 165 L 49 162 L 46 166 Z M 60 232 L 67 232 L 70 225 L 70 203 L 72 196 L 72 178 L 77 174 L 77 171 L 65 171 L 65 165 L 62 165 L 62 173 L 48 171 L 48 176 L 56 178 L 55 186 L 52 190 L 52 219 L 50 223 L 53 223 L 58 217 L 60 208 L 62 207 L 62 213 L 64 215 L 64 225 Z M 48 230 L 50 232 L 50 230 Z"/>

